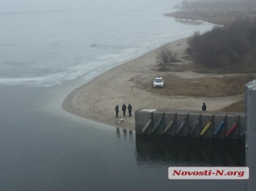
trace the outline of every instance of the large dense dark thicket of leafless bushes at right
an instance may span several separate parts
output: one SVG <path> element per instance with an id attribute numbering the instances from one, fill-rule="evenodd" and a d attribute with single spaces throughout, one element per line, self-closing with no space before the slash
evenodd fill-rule
<path id="1" fill-rule="evenodd" d="M 237 18 L 229 26 L 195 32 L 187 43 L 187 53 L 199 65 L 223 73 L 256 72 L 256 19 Z"/>

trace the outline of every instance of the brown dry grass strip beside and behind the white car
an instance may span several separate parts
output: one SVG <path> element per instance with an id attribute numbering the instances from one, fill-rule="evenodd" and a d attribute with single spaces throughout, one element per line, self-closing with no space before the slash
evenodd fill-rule
<path id="1" fill-rule="evenodd" d="M 244 93 L 244 85 L 254 80 L 256 75 L 238 75 L 224 78 L 178 78 L 176 75 L 164 76 L 164 88 L 153 88 L 151 82 L 137 83 L 150 93 L 159 95 L 181 95 L 219 97 Z"/>

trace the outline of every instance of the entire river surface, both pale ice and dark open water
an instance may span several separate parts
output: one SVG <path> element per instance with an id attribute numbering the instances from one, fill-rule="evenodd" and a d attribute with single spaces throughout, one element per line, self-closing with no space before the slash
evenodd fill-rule
<path id="1" fill-rule="evenodd" d="M 162 16 L 180 1 L 0 2 L 0 190 L 245 190 L 167 177 L 171 166 L 244 166 L 243 144 L 141 140 L 61 109 L 79 85 L 212 24 Z"/>

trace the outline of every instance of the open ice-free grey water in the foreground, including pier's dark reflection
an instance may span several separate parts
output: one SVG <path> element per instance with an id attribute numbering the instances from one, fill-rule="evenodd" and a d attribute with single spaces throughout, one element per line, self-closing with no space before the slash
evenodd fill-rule
<path id="1" fill-rule="evenodd" d="M 174 166 L 244 166 L 243 144 L 136 139 L 43 106 L 66 88 L 0 90 L 0 190 L 245 190 L 244 180 L 167 177 Z"/>

